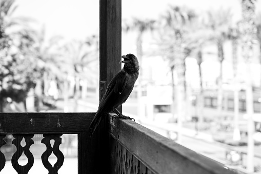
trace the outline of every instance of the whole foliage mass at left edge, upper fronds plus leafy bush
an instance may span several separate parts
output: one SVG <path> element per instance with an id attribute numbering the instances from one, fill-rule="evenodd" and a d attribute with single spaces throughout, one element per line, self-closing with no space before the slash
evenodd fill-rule
<path id="1" fill-rule="evenodd" d="M 29 35 L 20 29 L 19 32 L 8 32 L 15 26 L 22 24 L 22 18 L 12 18 L 17 8 L 14 1 L 0 1 L 0 100 L 11 98 L 16 102 L 24 101 L 27 92 L 34 86 L 37 78 L 37 66 L 30 54 L 24 54 L 29 46 L 25 41 Z"/>

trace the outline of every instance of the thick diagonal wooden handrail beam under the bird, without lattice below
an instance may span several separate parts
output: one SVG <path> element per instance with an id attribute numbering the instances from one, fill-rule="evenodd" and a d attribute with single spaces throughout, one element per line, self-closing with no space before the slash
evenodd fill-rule
<path id="1" fill-rule="evenodd" d="M 154 173 L 236 173 L 133 121 L 110 119 L 109 126 L 112 137 Z"/>

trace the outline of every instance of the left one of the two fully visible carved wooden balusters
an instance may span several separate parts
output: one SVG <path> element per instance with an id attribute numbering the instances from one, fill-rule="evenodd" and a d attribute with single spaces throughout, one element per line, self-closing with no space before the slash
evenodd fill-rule
<path id="1" fill-rule="evenodd" d="M 13 168 L 17 171 L 18 174 L 28 173 L 28 171 L 33 166 L 34 158 L 33 154 L 30 152 L 30 146 L 34 144 L 32 140 L 33 136 L 34 134 L 13 134 L 14 140 L 12 144 L 16 146 L 16 152 L 13 154 L 11 161 Z M 25 139 L 26 142 L 26 145 L 24 147 L 21 145 L 21 141 L 23 139 Z M 22 156 L 22 153 L 24 153 L 28 159 L 27 164 L 23 166 L 18 164 L 18 159 Z"/>

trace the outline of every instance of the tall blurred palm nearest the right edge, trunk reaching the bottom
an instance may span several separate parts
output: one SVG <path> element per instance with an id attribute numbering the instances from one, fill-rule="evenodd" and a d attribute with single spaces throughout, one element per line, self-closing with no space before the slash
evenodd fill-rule
<path id="1" fill-rule="evenodd" d="M 255 26 L 255 0 L 242 0 L 243 19 L 240 23 L 240 33 L 242 35 L 242 54 L 246 63 L 246 109 L 248 115 L 248 158 L 247 170 L 254 172 L 254 122 L 253 122 L 253 88 L 251 81 L 250 62 L 253 58 L 253 44 L 256 34 Z"/>

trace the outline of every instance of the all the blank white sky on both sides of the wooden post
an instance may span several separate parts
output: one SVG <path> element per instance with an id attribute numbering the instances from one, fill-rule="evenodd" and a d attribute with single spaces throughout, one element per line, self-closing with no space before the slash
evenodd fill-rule
<path id="1" fill-rule="evenodd" d="M 97 0 L 16 0 L 16 16 L 28 16 L 45 24 L 47 36 L 63 35 L 66 38 L 84 39 L 98 33 L 99 1 Z M 240 0 L 123 0 L 122 18 L 132 16 L 157 18 L 168 5 L 186 5 L 200 12 L 218 7 L 231 7 L 235 18 L 240 16 Z M 257 4 L 260 11 L 261 3 Z"/>

